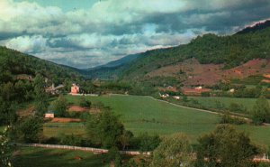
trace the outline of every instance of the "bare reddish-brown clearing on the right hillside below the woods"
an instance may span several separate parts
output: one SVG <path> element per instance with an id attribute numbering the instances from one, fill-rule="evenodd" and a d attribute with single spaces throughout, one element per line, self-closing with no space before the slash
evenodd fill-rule
<path id="1" fill-rule="evenodd" d="M 269 60 L 249 60 L 247 63 L 229 70 L 223 70 L 223 67 L 223 64 L 201 64 L 198 60 L 190 59 L 153 70 L 147 76 L 184 78 L 184 86 L 211 86 L 220 80 L 244 79 L 251 75 L 270 74 Z"/>

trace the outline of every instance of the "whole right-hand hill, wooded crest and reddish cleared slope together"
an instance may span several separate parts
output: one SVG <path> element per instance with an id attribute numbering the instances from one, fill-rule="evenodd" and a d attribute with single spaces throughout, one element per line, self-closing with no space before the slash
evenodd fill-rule
<path id="1" fill-rule="evenodd" d="M 269 73 L 269 22 L 257 23 L 229 36 L 209 33 L 188 44 L 142 52 L 131 63 L 89 70 L 88 75 L 94 73 L 91 78 L 135 83 L 173 79 L 190 86 Z"/>

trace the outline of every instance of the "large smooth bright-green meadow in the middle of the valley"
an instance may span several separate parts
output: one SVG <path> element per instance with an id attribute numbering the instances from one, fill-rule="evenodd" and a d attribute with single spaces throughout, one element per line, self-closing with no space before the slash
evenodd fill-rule
<path id="1" fill-rule="evenodd" d="M 112 96 L 87 97 L 92 102 L 102 101 L 105 106 L 121 115 L 125 127 L 138 135 L 141 132 L 167 135 L 184 132 L 195 139 L 213 129 L 219 117 L 193 109 L 184 109 L 155 101 L 150 97 Z M 77 103 L 79 97 L 67 96 L 68 101 Z"/>

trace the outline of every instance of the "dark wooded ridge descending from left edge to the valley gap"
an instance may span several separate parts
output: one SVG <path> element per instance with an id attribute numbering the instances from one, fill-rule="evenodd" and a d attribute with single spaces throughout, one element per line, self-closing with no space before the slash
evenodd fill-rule
<path id="1" fill-rule="evenodd" d="M 20 74 L 31 75 L 33 78 L 36 74 L 41 74 L 55 84 L 62 83 L 65 79 L 79 78 L 79 74 L 74 70 L 2 46 L 0 46 L 0 70 L 1 82 Z"/>

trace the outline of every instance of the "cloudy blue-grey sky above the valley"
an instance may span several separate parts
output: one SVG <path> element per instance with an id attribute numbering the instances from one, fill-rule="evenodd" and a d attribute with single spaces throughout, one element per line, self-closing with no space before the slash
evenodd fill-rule
<path id="1" fill-rule="evenodd" d="M 0 45 L 85 69 L 268 18 L 270 0 L 0 0 Z"/>

